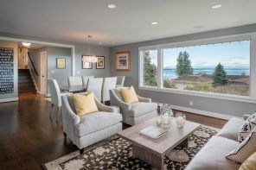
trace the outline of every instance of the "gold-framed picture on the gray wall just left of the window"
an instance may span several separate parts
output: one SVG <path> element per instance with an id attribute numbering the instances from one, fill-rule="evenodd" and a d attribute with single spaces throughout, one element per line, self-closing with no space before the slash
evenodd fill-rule
<path id="1" fill-rule="evenodd" d="M 115 57 L 117 71 L 130 71 L 131 56 L 129 51 L 118 52 Z"/>

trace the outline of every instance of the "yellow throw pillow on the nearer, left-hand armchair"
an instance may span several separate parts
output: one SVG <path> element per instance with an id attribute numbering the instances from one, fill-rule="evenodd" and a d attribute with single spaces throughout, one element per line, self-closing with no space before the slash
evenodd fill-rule
<path id="1" fill-rule="evenodd" d="M 78 116 L 99 111 L 92 91 L 85 95 L 73 94 L 72 98 L 74 100 L 74 107 Z"/>

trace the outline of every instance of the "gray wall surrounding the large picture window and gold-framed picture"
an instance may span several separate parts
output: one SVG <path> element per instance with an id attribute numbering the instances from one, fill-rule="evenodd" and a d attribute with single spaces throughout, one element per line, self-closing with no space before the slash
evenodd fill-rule
<path id="1" fill-rule="evenodd" d="M 225 35 L 238 35 L 256 32 L 256 24 L 236 27 L 225 28 L 220 30 L 208 31 L 193 35 L 182 35 L 170 38 L 164 38 L 155 41 L 143 41 L 138 43 L 131 43 L 127 45 L 111 47 L 111 76 L 125 75 L 125 85 L 134 85 L 140 95 L 152 98 L 154 101 L 175 104 L 182 107 L 192 108 L 196 110 L 207 110 L 216 113 L 222 113 L 233 116 L 242 116 L 246 113 L 251 113 L 256 110 L 256 104 L 248 104 L 242 102 L 221 100 L 215 98 L 202 98 L 182 94 L 165 93 L 158 91 L 145 91 L 138 90 L 138 47 L 152 46 L 157 44 L 165 44 L 180 41 L 193 41 L 200 39 L 207 39 Z M 117 72 L 115 71 L 114 56 L 119 51 L 131 51 L 131 71 L 130 72 Z M 190 106 L 189 101 L 193 101 L 194 105 Z"/>

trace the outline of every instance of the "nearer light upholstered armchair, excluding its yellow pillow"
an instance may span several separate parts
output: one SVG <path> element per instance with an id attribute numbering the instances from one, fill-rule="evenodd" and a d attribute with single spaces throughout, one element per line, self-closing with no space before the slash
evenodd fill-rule
<path id="1" fill-rule="evenodd" d="M 62 97 L 63 133 L 80 149 L 118 133 L 122 129 L 122 115 L 113 107 L 101 104 L 94 98 L 99 112 L 77 116 L 73 98 Z"/>

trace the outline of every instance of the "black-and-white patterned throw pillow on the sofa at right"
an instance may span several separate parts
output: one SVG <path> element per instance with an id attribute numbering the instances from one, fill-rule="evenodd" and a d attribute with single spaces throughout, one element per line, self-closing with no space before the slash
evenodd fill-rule
<path id="1" fill-rule="evenodd" d="M 250 134 L 250 132 L 254 129 L 255 126 L 256 126 L 256 113 L 249 116 L 246 122 L 240 127 L 238 141 L 243 142 L 246 139 L 246 137 Z"/>

